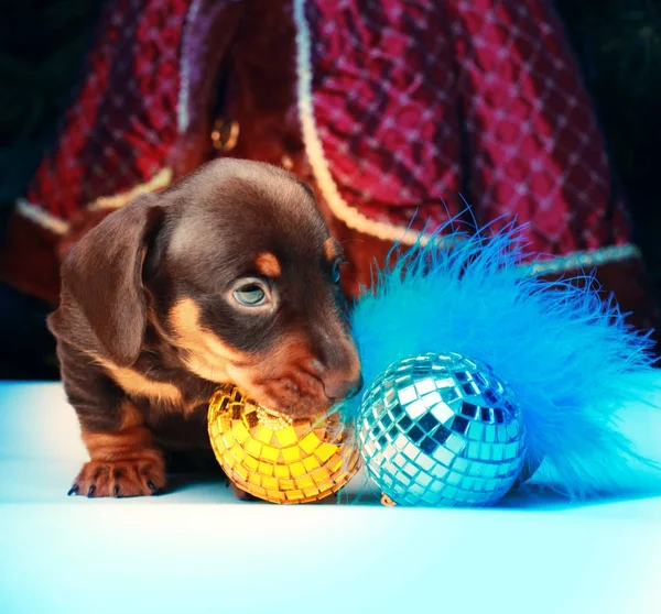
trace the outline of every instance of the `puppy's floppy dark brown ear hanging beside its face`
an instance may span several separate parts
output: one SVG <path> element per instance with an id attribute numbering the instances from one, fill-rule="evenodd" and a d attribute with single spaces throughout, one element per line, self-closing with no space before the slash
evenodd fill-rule
<path id="1" fill-rule="evenodd" d="M 162 213 L 158 196 L 141 195 L 71 249 L 62 266 L 62 301 L 69 304 L 61 305 L 51 318 L 55 333 L 75 326 L 79 318 L 64 318 L 63 313 L 77 307 L 116 364 L 136 362 L 147 326 L 142 265 Z"/>

